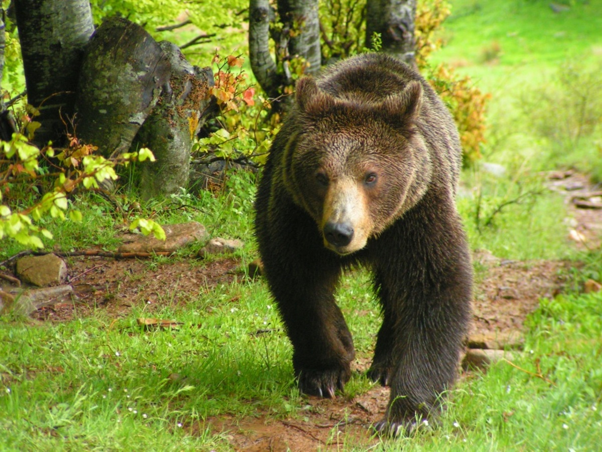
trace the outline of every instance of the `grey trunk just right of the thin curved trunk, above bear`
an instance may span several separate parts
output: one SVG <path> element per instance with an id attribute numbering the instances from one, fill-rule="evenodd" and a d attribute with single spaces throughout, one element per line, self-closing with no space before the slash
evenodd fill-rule
<path id="1" fill-rule="evenodd" d="M 309 63 L 305 74 L 320 71 L 318 0 L 278 0 L 278 13 L 285 30 L 290 32 L 288 52 L 291 57 L 302 57 Z"/>

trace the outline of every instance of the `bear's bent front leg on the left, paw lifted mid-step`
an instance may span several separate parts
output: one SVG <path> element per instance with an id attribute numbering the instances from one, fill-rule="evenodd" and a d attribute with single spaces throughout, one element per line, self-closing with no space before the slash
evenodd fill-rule
<path id="1" fill-rule="evenodd" d="M 351 375 L 353 340 L 334 292 L 341 259 L 326 250 L 317 227 L 305 214 L 290 209 L 275 226 L 282 234 L 258 224 L 265 276 L 293 344 L 293 367 L 299 389 L 334 397 Z M 288 237 L 294 237 L 289 240 Z"/>

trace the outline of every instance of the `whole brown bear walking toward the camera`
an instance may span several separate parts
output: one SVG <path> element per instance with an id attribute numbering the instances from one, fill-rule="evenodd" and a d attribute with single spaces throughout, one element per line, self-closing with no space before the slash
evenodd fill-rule
<path id="1" fill-rule="evenodd" d="M 460 167 L 458 131 L 429 84 L 371 53 L 299 80 L 259 183 L 259 253 L 300 391 L 343 390 L 355 350 L 335 288 L 344 269 L 373 272 L 383 322 L 368 376 L 391 386 L 380 433 L 439 412 L 458 372 L 473 280 Z"/>

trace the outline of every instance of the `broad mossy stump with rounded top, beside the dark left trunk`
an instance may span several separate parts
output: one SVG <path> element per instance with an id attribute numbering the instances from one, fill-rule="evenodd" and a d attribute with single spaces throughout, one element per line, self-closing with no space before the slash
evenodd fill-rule
<path id="1" fill-rule="evenodd" d="M 128 151 L 169 89 L 170 64 L 151 35 L 120 17 L 105 20 L 88 44 L 79 77 L 76 134 L 105 156 Z"/>

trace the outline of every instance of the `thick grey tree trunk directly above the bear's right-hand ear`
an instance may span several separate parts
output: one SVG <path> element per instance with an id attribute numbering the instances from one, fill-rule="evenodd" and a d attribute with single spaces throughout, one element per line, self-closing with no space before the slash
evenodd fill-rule
<path id="1" fill-rule="evenodd" d="M 372 36 L 379 33 L 383 52 L 415 67 L 416 0 L 370 0 L 367 7 L 366 47 L 372 48 Z"/>

